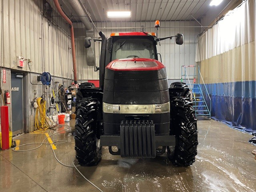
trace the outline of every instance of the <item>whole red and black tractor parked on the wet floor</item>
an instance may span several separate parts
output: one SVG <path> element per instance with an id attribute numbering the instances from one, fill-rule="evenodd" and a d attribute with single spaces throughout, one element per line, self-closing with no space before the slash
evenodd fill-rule
<path id="1" fill-rule="evenodd" d="M 125 158 L 167 156 L 189 166 L 197 154 L 197 125 L 188 86 L 168 87 L 156 45 L 167 38 L 183 44 L 183 35 L 112 33 L 101 39 L 100 87 L 79 86 L 76 96 L 75 150 L 80 165 L 96 165 L 102 146 Z M 99 39 L 85 38 L 84 46 Z M 161 60 L 161 58 L 160 58 Z M 117 147 L 116 150 L 113 147 Z"/>

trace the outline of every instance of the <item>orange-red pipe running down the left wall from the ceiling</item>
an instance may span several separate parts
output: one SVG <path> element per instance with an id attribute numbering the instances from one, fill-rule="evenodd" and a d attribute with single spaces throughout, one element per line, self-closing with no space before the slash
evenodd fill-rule
<path id="1" fill-rule="evenodd" d="M 57 11 L 60 13 L 60 15 L 68 22 L 68 24 L 71 26 L 70 28 L 70 36 L 71 36 L 71 50 L 72 50 L 72 58 L 73 58 L 73 70 L 74 70 L 74 83 L 77 84 L 77 76 L 76 76 L 76 51 L 75 51 L 75 37 L 74 37 L 74 28 L 73 23 L 70 19 L 68 19 L 67 15 L 62 11 L 60 4 L 58 0 L 53 0 Z"/>

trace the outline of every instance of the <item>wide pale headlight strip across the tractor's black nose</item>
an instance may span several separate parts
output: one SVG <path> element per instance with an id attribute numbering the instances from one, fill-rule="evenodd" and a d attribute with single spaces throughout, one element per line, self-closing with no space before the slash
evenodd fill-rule
<path id="1" fill-rule="evenodd" d="M 120 114 L 155 114 L 170 112 L 170 102 L 163 104 L 146 104 L 146 105 L 125 105 L 109 104 L 103 102 L 104 113 Z"/>

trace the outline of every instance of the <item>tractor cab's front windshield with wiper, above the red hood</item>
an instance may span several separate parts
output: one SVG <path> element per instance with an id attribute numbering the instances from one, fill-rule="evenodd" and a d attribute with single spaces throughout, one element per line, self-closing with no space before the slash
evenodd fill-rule
<path id="1" fill-rule="evenodd" d="M 113 44 L 112 60 L 125 58 L 156 59 L 153 42 L 149 39 L 118 39 Z"/>

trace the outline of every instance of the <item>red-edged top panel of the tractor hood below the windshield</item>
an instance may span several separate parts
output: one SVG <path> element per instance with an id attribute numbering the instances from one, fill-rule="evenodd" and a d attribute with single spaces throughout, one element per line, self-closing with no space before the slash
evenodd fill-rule
<path id="1" fill-rule="evenodd" d="M 165 66 L 154 59 L 131 58 L 113 60 L 108 63 L 106 68 L 114 71 L 148 71 L 159 70 Z"/>

